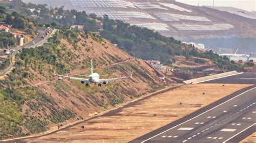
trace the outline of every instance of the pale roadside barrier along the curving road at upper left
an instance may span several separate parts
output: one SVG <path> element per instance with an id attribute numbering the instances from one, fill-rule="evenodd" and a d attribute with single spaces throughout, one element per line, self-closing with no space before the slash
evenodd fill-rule
<path id="1" fill-rule="evenodd" d="M 49 39 L 53 34 L 55 34 L 57 31 L 58 31 L 57 29 L 53 30 L 53 31 L 51 32 L 51 34 L 47 35 L 42 41 L 39 41 L 39 42 L 36 43 L 35 45 L 26 46 L 26 47 L 24 47 L 24 48 L 36 48 L 36 47 L 38 47 L 38 46 L 43 45 L 43 44 L 44 44 L 45 42 L 47 42 L 48 39 Z M 13 62 L 13 61 L 14 61 L 14 58 L 15 58 L 15 55 L 16 55 L 17 52 L 18 52 L 18 50 L 11 54 L 11 56 L 10 56 L 10 58 L 9 58 L 9 60 L 10 60 L 10 65 L 9 65 L 9 67 L 7 67 L 7 68 L 5 68 L 4 70 L 1 71 L 0 76 L 6 75 L 6 74 L 8 73 L 8 71 L 14 66 L 14 62 Z"/>

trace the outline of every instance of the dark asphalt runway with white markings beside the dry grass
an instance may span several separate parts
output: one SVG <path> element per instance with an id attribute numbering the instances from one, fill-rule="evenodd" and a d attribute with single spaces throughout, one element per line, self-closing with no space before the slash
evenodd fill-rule
<path id="1" fill-rule="evenodd" d="M 255 132 L 256 85 L 131 142 L 238 142 Z"/>

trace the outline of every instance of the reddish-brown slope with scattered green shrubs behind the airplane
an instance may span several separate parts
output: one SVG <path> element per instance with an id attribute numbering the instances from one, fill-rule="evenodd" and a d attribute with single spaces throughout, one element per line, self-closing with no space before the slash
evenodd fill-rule
<path id="1" fill-rule="evenodd" d="M 134 77 L 98 88 L 52 76 L 53 68 L 59 74 L 88 74 L 90 59 L 96 72 L 107 77 L 129 76 L 131 71 Z M 60 31 L 48 44 L 18 53 L 15 69 L 1 81 L 0 138 L 43 132 L 163 88 L 153 72 L 144 61 L 131 59 L 96 35 Z"/>

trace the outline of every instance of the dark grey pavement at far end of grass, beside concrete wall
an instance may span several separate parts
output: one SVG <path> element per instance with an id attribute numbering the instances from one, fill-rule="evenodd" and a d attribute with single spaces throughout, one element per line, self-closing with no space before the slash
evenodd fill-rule
<path id="1" fill-rule="evenodd" d="M 256 73 L 244 73 L 240 75 L 219 78 L 217 80 L 206 81 L 203 83 L 256 84 Z"/>

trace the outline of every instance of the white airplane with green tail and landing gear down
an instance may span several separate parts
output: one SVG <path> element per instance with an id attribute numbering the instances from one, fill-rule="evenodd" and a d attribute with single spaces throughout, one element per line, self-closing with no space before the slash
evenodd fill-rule
<path id="1" fill-rule="evenodd" d="M 133 73 L 133 72 L 132 72 Z M 89 83 L 95 83 L 97 84 L 98 83 L 98 87 L 102 87 L 102 83 L 103 84 L 107 84 L 109 82 L 113 82 L 113 81 L 116 81 L 116 80 L 124 80 L 126 78 L 132 78 L 132 74 L 131 76 L 129 77 L 119 77 L 119 78 L 108 78 L 108 79 L 100 79 L 100 76 L 99 74 L 97 73 L 93 73 L 93 63 L 92 63 L 92 60 L 91 60 L 91 74 L 89 76 L 86 76 L 86 75 L 78 75 L 78 76 L 84 76 L 84 77 L 88 77 L 88 78 L 79 78 L 79 77 L 71 77 L 71 76 L 68 76 L 68 74 L 65 76 L 65 75 L 57 75 L 55 74 L 55 70 L 53 69 L 53 74 L 55 76 L 58 76 L 58 80 L 62 80 L 62 77 L 64 78 L 70 78 L 71 80 L 76 80 L 76 81 L 80 81 L 82 84 L 85 83 L 85 86 L 88 87 L 89 86 Z"/>

